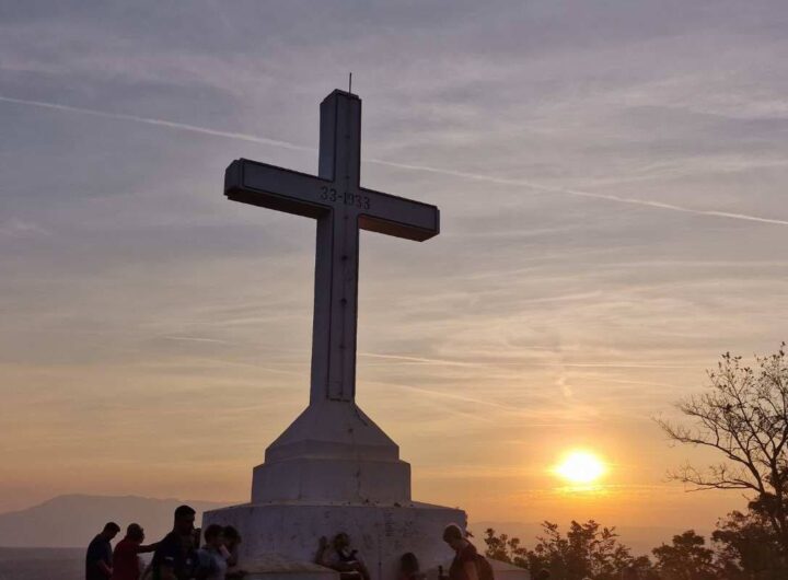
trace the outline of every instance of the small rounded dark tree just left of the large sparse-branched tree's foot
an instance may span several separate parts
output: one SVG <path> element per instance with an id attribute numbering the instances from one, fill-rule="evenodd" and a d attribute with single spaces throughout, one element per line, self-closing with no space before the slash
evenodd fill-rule
<path id="1" fill-rule="evenodd" d="M 664 580 L 716 580 L 714 552 L 706 540 L 688 530 L 673 536 L 671 545 L 662 544 L 651 550 L 657 558 L 656 568 Z"/>

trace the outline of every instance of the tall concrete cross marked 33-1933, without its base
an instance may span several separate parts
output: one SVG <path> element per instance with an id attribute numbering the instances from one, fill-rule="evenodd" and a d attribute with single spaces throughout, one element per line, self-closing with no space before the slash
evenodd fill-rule
<path id="1" fill-rule="evenodd" d="M 310 404 L 354 402 L 359 229 L 421 242 L 439 232 L 434 206 L 373 192 L 359 183 L 361 100 L 334 91 L 321 103 L 318 176 L 240 159 L 224 194 L 317 220 Z"/>

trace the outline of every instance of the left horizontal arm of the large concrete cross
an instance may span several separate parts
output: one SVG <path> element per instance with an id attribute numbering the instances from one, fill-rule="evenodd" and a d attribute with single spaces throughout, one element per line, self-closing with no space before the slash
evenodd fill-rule
<path id="1" fill-rule="evenodd" d="M 246 159 L 233 161 L 224 172 L 224 195 L 233 201 L 251 204 L 318 218 L 328 209 L 325 196 L 331 182 Z"/>

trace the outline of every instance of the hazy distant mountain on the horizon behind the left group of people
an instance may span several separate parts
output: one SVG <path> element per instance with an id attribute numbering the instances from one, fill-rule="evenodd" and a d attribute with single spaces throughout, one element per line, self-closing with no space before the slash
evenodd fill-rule
<path id="1" fill-rule="evenodd" d="M 175 508 L 188 503 L 202 512 L 233 502 L 155 499 L 136 496 L 58 496 L 25 510 L 0 513 L 0 546 L 4 547 L 82 547 L 101 532 L 108 521 L 121 530 L 137 522 L 148 541 L 161 540 L 172 529 Z"/>

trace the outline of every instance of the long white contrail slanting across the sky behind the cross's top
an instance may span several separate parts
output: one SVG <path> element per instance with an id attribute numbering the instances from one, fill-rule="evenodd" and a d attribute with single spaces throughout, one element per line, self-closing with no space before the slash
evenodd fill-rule
<path id="1" fill-rule="evenodd" d="M 111 119 L 131 120 L 136 123 L 144 123 L 147 125 L 155 125 L 158 127 L 167 127 L 170 129 L 178 129 L 183 131 L 198 132 L 201 135 L 210 135 L 212 137 L 222 137 L 225 139 L 235 139 L 240 141 L 250 141 L 253 143 L 267 144 L 273 147 L 280 147 L 282 149 L 291 149 L 294 151 L 316 151 L 313 147 L 300 146 L 291 143 L 289 141 L 282 141 L 279 139 L 268 139 L 266 137 L 258 137 L 256 135 L 250 135 L 244 132 L 232 132 L 232 131 L 220 131 L 217 129 L 210 129 L 208 127 L 200 127 L 198 125 L 189 125 L 186 123 L 175 123 L 172 120 L 158 119 L 153 117 L 140 117 L 138 115 L 128 115 L 125 113 L 108 113 L 106 111 L 97 111 L 93 108 L 74 107 L 70 105 L 61 105 L 59 103 L 49 103 L 46 101 L 31 101 L 26 98 L 13 98 L 10 96 L 0 96 L 0 101 L 5 103 L 14 103 L 18 105 L 27 105 L 34 107 L 49 108 L 55 111 L 65 111 L 69 113 L 80 113 L 83 115 L 93 115 L 96 117 L 105 117 Z M 775 218 L 762 218 L 758 216 L 750 216 L 748 213 L 733 213 L 729 211 L 717 211 L 711 209 L 693 209 L 684 206 L 676 206 L 674 204 L 663 204 L 662 201 L 654 201 L 649 199 L 635 199 L 630 197 L 621 197 L 607 194 L 594 194 L 591 192 L 582 192 L 580 189 L 569 189 L 565 187 L 553 187 L 548 185 L 542 185 L 532 183 L 524 179 L 508 179 L 506 177 L 495 177 L 493 175 L 485 175 L 480 173 L 468 173 L 464 171 L 445 170 L 441 167 L 431 167 L 429 165 L 414 165 L 410 163 L 398 163 L 394 161 L 385 161 L 382 159 L 364 159 L 368 163 L 374 163 L 376 165 L 386 165 L 389 167 L 396 167 L 399 170 L 407 171 L 419 171 L 425 173 L 434 173 L 438 175 L 447 175 L 450 177 L 460 177 L 463 179 L 474 179 L 478 182 L 495 183 L 499 185 L 513 185 L 517 187 L 526 187 L 536 192 L 544 192 L 548 194 L 560 194 L 575 197 L 586 197 L 591 199 L 601 199 L 605 201 L 612 201 L 615 204 L 627 204 L 630 206 L 640 206 L 653 209 L 663 209 L 669 211 L 679 211 L 682 213 L 692 213 L 695 216 L 706 216 L 710 218 L 726 218 L 734 220 L 754 221 L 758 223 L 770 223 L 775 225 L 788 225 L 788 220 L 779 220 Z"/>

